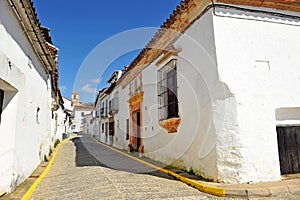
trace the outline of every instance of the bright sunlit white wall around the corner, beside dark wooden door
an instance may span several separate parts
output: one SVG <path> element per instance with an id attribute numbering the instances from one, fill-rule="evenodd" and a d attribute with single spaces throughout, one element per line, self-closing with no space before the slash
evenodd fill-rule
<path id="1" fill-rule="evenodd" d="M 300 107 L 300 22 L 233 10 L 216 14 L 220 80 L 231 97 L 224 98 L 218 178 L 279 180 L 276 110 Z"/>

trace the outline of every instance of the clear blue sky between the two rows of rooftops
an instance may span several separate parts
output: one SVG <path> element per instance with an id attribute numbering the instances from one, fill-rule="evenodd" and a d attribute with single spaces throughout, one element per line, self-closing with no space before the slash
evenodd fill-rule
<path id="1" fill-rule="evenodd" d="M 104 87 L 105 79 L 114 69 L 129 65 L 138 54 L 139 47 L 146 45 L 156 28 L 169 17 L 180 0 L 33 0 L 33 2 L 42 25 L 51 29 L 53 43 L 59 48 L 59 85 L 62 95 L 71 97 L 76 80 L 80 82 L 75 84 L 75 89 L 79 90 L 81 100 L 92 102 L 95 98 L 93 84 L 96 84 L 98 89 Z M 154 27 L 154 29 L 146 29 L 146 31 L 139 29 L 144 27 Z M 141 35 L 138 41 L 132 42 L 131 38 L 128 39 L 128 44 L 122 43 L 124 38 L 126 40 L 126 37 L 132 36 L 131 32 L 127 36 L 128 32 L 124 34 L 124 31 L 137 28 L 138 31 L 134 31 L 133 34 Z M 121 38 L 122 42 L 109 45 L 113 41 L 110 38 L 116 41 Z M 105 42 L 108 44 L 107 52 L 118 52 L 119 55 L 118 58 L 110 60 L 111 62 L 104 62 L 110 56 L 106 55 L 106 50 L 103 51 L 104 45 L 101 44 Z M 138 45 L 135 44 L 132 50 L 127 48 L 120 53 L 122 46 L 132 43 Z M 97 46 L 98 49 L 95 50 Z M 85 69 L 90 74 L 94 74 L 94 77 L 90 75 L 86 76 L 89 80 L 79 80 L 77 73 L 80 72 L 80 68 L 84 68 L 83 63 L 89 60 L 89 55 L 93 55 L 91 54 L 93 50 L 97 55 L 95 54 L 92 65 L 85 62 L 89 63 L 90 67 Z M 98 71 L 101 71 L 100 75 Z"/>

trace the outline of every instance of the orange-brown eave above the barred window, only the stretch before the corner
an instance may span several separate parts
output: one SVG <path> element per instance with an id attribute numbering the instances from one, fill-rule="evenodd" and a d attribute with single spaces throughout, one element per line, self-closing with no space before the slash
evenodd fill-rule
<path id="1" fill-rule="evenodd" d="M 184 32 L 197 17 L 211 5 L 210 0 L 184 0 L 161 25 L 150 42 L 129 65 L 127 73 L 120 79 L 122 87 L 145 67 L 158 58 L 168 46 Z"/>

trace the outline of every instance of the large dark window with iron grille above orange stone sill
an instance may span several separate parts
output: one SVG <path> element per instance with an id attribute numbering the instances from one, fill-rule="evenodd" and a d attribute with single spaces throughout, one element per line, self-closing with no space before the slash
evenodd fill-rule
<path id="1" fill-rule="evenodd" d="M 179 117 L 176 62 L 173 59 L 158 71 L 159 120 Z"/>

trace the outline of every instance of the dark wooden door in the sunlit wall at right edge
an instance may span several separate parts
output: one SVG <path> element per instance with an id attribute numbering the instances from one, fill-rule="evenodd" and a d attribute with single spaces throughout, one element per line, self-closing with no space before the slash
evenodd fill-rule
<path id="1" fill-rule="evenodd" d="M 300 126 L 277 127 L 281 174 L 300 172 Z"/>

